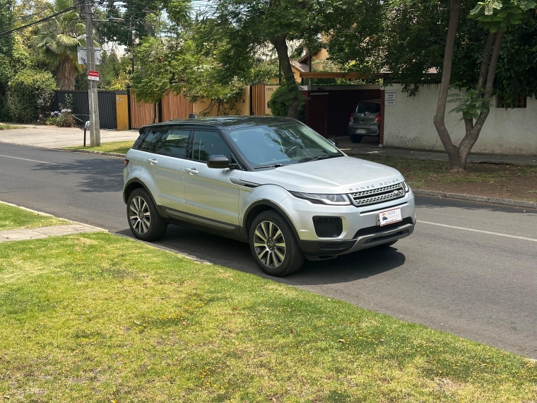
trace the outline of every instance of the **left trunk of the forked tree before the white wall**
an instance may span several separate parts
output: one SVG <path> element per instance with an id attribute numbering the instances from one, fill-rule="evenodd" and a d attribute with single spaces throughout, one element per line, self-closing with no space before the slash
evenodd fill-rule
<path id="1" fill-rule="evenodd" d="M 447 152 L 450 170 L 464 170 L 459 164 L 459 148 L 452 143 L 452 139 L 447 131 L 444 117 L 446 115 L 447 92 L 452 79 L 453 51 L 455 47 L 455 36 L 459 14 L 461 12 L 461 0 L 450 1 L 451 11 L 449 13 L 449 26 L 447 28 L 446 48 L 444 51 L 444 65 L 442 66 L 442 82 L 438 94 L 437 112 L 433 122 L 437 130 L 440 141 Z"/>

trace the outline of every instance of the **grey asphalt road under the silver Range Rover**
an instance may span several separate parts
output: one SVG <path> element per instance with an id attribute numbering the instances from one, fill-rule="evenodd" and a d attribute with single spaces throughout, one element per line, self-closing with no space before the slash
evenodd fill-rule
<path id="1" fill-rule="evenodd" d="M 123 160 L 0 143 L 0 200 L 130 235 Z M 537 211 L 417 197 L 418 224 L 276 281 L 537 358 Z M 170 226 L 161 245 L 264 276 L 247 244 Z"/>

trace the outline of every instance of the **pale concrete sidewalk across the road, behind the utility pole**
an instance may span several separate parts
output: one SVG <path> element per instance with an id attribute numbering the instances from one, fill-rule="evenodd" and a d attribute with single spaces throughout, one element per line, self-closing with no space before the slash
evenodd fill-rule
<path id="1" fill-rule="evenodd" d="M 0 131 L 0 143 L 19 144 L 21 146 L 35 146 L 43 148 L 57 148 L 69 146 L 81 146 L 83 144 L 84 132 L 76 127 L 55 127 L 37 124 L 18 124 L 23 129 L 9 129 Z M 111 141 L 136 140 L 137 130 L 126 130 L 117 132 L 116 130 L 101 129 L 101 143 Z M 90 133 L 86 134 L 86 145 L 90 144 Z"/>

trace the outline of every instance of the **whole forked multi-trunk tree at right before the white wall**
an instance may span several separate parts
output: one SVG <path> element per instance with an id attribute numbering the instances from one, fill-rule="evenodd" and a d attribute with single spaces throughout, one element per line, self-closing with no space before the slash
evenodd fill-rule
<path id="1" fill-rule="evenodd" d="M 442 81 L 438 95 L 437 112 L 433 122 L 440 141 L 449 157 L 449 169 L 452 171 L 466 170 L 466 158 L 483 128 L 483 124 L 490 112 L 490 100 L 494 88 L 494 79 L 500 47 L 506 29 L 519 25 L 523 18 L 527 18 L 526 11 L 536 6 L 533 0 L 485 0 L 477 4 L 471 11 L 471 16 L 488 31 L 485 45 L 480 57 L 480 68 L 477 82 L 473 88 L 466 88 L 459 98 L 459 105 L 454 112 L 461 112 L 464 119 L 466 134 L 459 146 L 453 144 L 451 136 L 444 123 L 446 113 L 448 90 L 452 85 L 451 74 L 454 57 L 457 24 L 461 12 L 461 0 L 450 0 L 449 25 L 444 50 L 444 63 L 442 66 Z"/>

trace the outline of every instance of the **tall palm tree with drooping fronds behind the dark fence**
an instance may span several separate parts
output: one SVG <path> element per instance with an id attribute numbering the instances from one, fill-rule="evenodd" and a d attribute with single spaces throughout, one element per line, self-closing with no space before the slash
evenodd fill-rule
<path id="1" fill-rule="evenodd" d="M 63 11 L 71 5 L 69 1 L 55 0 L 51 7 L 52 13 Z M 78 11 L 73 9 L 62 13 L 48 21 L 42 29 L 42 32 L 35 35 L 35 45 L 42 49 L 50 67 L 57 69 L 59 89 L 74 90 L 76 72 L 81 69 L 77 61 L 77 47 L 85 45 L 85 40 L 77 39 L 85 31 Z"/>

